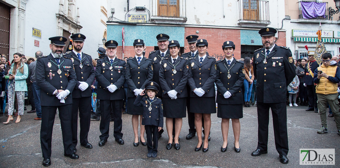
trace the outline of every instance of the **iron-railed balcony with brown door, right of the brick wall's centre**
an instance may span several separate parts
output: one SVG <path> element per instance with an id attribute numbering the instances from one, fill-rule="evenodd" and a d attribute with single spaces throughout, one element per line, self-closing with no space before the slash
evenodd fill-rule
<path id="1" fill-rule="evenodd" d="M 239 23 L 245 26 L 264 26 L 269 20 L 269 1 L 238 0 Z"/>

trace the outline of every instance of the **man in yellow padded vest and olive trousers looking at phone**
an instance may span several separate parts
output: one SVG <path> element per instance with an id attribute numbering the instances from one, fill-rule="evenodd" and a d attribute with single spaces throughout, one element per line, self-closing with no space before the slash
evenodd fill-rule
<path id="1" fill-rule="evenodd" d="M 336 61 L 331 61 L 332 55 L 325 53 L 322 55 L 322 64 L 314 71 L 314 83 L 317 83 L 316 93 L 318 95 L 318 109 L 322 127 L 317 132 L 327 133 L 327 102 L 333 112 L 335 123 L 340 135 L 340 105 L 338 102 L 338 83 L 340 82 L 340 71 Z"/>

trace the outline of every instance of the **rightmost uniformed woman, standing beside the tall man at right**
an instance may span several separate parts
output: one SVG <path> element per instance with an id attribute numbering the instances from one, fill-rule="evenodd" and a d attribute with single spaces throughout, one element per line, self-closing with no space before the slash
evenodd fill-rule
<path id="1" fill-rule="evenodd" d="M 224 59 L 216 62 L 217 68 L 217 117 L 222 118 L 221 129 L 223 136 L 223 145 L 221 152 L 225 152 L 228 147 L 228 130 L 229 118 L 232 119 L 234 131 L 234 149 L 240 152 L 240 120 L 243 117 L 242 113 L 242 91 L 241 86 L 244 80 L 245 70 L 243 62 L 233 58 L 235 45 L 232 41 L 226 41 L 222 45 L 225 55 Z"/>

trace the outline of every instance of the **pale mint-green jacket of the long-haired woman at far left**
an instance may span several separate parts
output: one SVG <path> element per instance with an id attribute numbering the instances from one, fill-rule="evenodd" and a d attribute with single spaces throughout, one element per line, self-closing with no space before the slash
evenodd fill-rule
<path id="1" fill-rule="evenodd" d="M 9 74 L 12 74 L 14 64 L 15 62 L 12 63 Z M 20 69 L 17 69 L 17 72 L 15 73 L 15 91 L 27 92 L 26 79 L 28 77 L 28 66 L 26 64 L 21 64 L 20 68 L 21 67 L 23 67 L 23 74 L 20 72 Z"/>

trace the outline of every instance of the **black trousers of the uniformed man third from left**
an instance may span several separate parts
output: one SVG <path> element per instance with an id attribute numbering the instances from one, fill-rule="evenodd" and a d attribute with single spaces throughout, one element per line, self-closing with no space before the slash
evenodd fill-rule
<path id="1" fill-rule="evenodd" d="M 101 135 L 99 136 L 100 140 L 107 140 L 108 131 L 110 127 L 110 113 L 111 107 L 113 109 L 114 116 L 114 131 L 113 136 L 116 139 L 122 138 L 122 104 L 123 100 L 99 100 L 100 101 L 100 111 L 101 111 L 101 120 L 99 125 L 99 130 Z"/>

